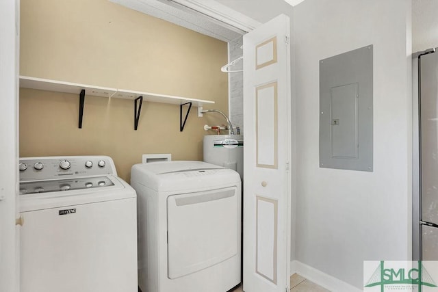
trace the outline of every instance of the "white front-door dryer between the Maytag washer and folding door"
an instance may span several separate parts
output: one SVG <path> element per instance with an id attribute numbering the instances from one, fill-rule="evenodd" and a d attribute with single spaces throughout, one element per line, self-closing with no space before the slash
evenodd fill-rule
<path id="1" fill-rule="evenodd" d="M 201 161 L 133 165 L 143 292 L 225 292 L 240 283 L 240 176 Z"/>

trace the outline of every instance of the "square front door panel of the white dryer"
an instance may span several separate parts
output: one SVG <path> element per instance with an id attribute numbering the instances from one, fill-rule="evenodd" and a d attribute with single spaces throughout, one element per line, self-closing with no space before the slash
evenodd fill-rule
<path id="1" fill-rule="evenodd" d="M 236 187 L 168 197 L 168 278 L 237 254 L 239 197 Z"/>

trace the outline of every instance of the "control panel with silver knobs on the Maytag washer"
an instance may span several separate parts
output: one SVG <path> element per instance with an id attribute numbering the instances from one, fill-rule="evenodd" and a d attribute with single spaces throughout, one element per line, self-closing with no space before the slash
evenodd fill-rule
<path id="1" fill-rule="evenodd" d="M 21 158 L 18 165 L 20 181 L 41 181 L 80 176 L 117 176 L 111 157 L 64 156 Z"/>

